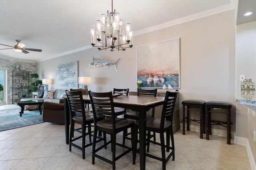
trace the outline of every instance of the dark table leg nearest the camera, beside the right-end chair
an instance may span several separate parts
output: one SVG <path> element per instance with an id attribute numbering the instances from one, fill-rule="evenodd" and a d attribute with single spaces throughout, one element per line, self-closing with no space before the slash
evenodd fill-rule
<path id="1" fill-rule="evenodd" d="M 140 170 L 146 169 L 146 111 L 139 112 Z"/>

